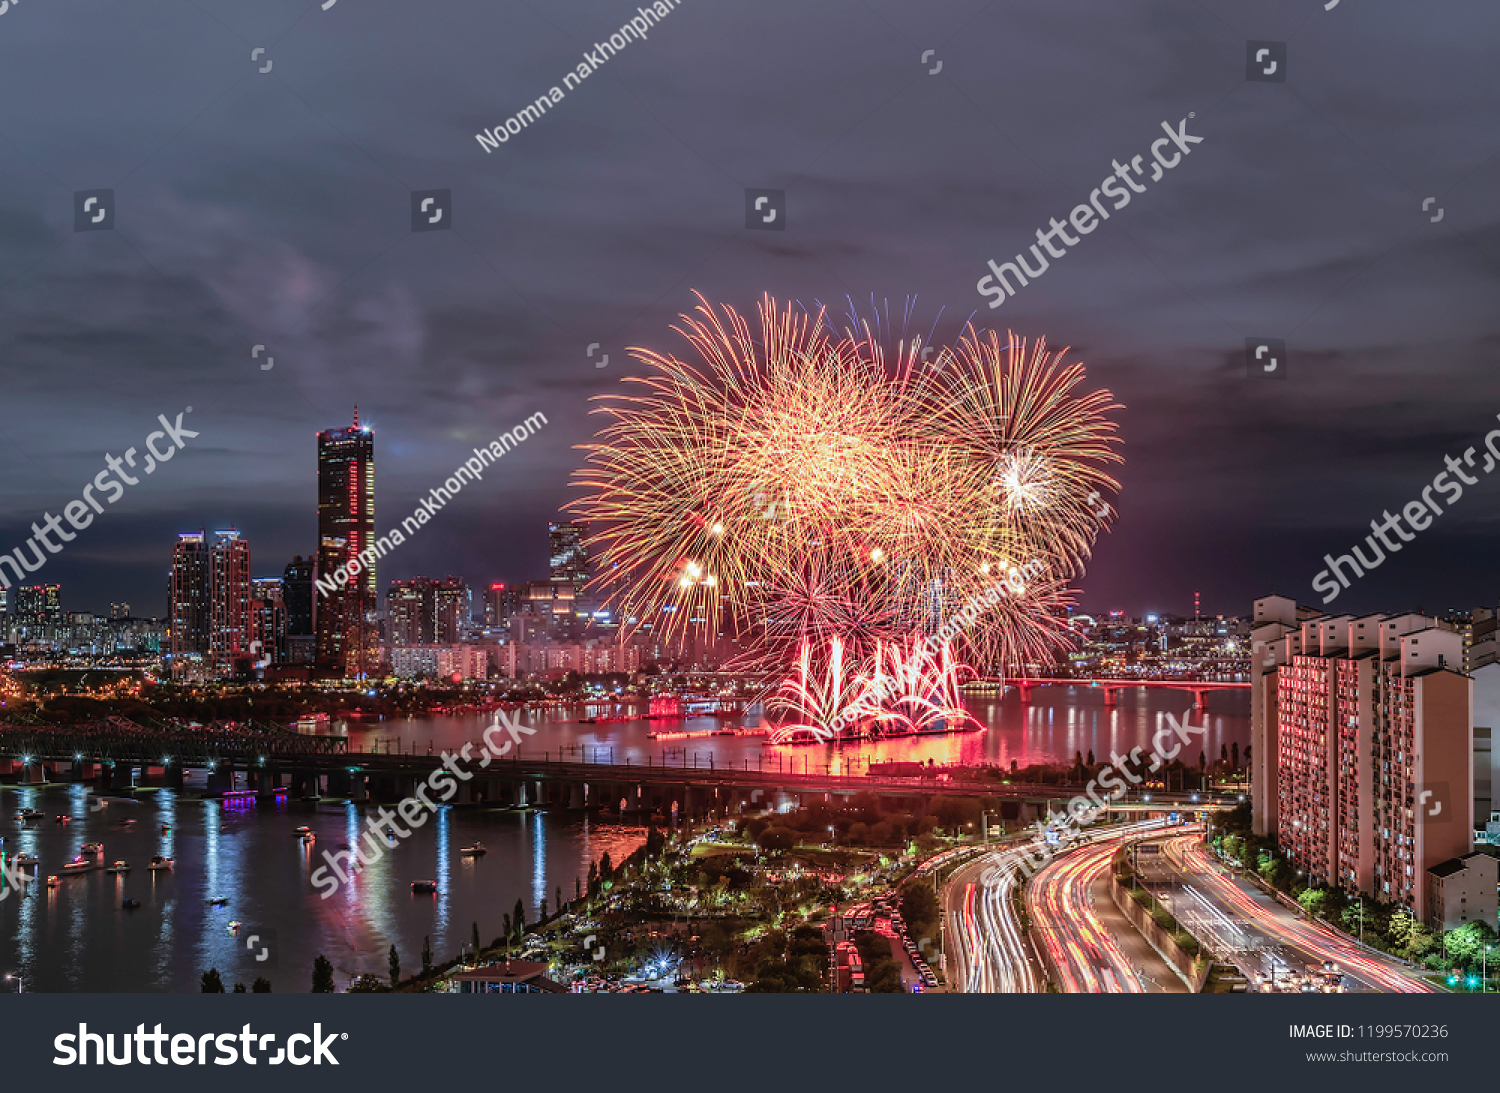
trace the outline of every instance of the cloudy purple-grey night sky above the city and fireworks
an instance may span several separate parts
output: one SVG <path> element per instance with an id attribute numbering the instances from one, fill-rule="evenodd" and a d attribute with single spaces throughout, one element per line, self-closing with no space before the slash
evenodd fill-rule
<path id="1" fill-rule="evenodd" d="M 230 525 L 279 574 L 315 546 L 315 433 L 358 403 L 381 529 L 550 420 L 382 588 L 546 576 L 590 399 L 636 369 L 626 346 L 680 345 L 693 289 L 744 312 L 916 297 L 924 333 L 972 315 L 1072 346 L 1126 406 L 1092 610 L 1317 604 L 1326 552 L 1500 427 L 1492 3 L 684 0 L 484 151 L 634 7 L 12 0 L 0 550 L 194 406 L 200 436 L 34 579 L 69 610 L 159 615 L 176 534 Z M 1248 40 L 1287 43 L 1286 82 L 1246 79 Z M 990 258 L 1182 118 L 1202 144 L 986 306 Z M 786 190 L 784 231 L 744 226 L 747 187 Z M 112 229 L 74 231 L 90 189 Z M 452 229 L 411 229 L 424 189 L 452 190 Z M 1246 337 L 1286 340 L 1286 381 L 1246 375 Z M 1494 604 L 1497 511 L 1480 477 L 1335 606 Z"/>

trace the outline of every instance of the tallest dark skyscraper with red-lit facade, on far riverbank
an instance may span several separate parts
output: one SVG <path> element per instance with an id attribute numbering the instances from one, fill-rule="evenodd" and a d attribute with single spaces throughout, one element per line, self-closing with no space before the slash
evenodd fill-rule
<path id="1" fill-rule="evenodd" d="M 354 424 L 318 433 L 318 576 L 332 579 L 375 544 L 375 436 Z M 375 567 L 322 595 L 315 612 L 320 672 L 362 678 L 380 667 Z"/>

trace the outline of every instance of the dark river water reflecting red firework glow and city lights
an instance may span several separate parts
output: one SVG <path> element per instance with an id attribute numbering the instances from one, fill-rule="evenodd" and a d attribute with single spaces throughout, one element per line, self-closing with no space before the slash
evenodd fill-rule
<path id="1" fill-rule="evenodd" d="M 546 711 L 524 717 L 537 733 L 522 747 L 525 754 L 562 750 L 570 759 L 616 763 L 706 766 L 711 756 L 716 766 L 830 765 L 836 774 L 862 769 L 867 760 L 1068 763 L 1076 751 L 1089 750 L 1104 762 L 1112 751 L 1149 750 L 1166 714 L 1180 717 L 1190 702 L 1186 694 L 1125 691 L 1118 708 L 1106 709 L 1100 691 L 1042 688 L 1026 705 L 1014 694 L 970 699 L 986 732 L 837 748 L 774 748 L 754 736 L 662 741 L 648 736 L 666 727 L 662 723 L 579 724 L 578 711 Z M 1208 711 L 1192 717 L 1194 724 L 1208 726 L 1209 760 L 1218 757 L 1221 744 L 1238 742 L 1244 750 L 1248 705 L 1245 691 L 1212 694 Z M 489 723 L 484 715 L 429 717 L 356 723 L 348 732 L 356 750 L 426 753 L 477 744 Z M 680 727 L 708 732 L 718 724 L 693 718 Z M 1196 762 L 1197 754 L 1185 759 Z M 46 819 L 22 826 L 21 808 L 40 810 Z M 69 823 L 56 823 L 58 813 Z M 45 879 L 82 843 L 102 843 L 105 862 L 124 859 L 134 867 L 128 874 L 63 876 L 58 888 L 32 885 L 24 897 L 9 892 L 0 900 L 0 976 L 21 975 L 28 991 L 196 991 L 202 972 L 218 967 L 226 988 L 264 976 L 276 991 L 306 991 L 312 961 L 322 954 L 344 990 L 357 973 L 386 976 L 392 945 L 402 975 L 420 967 L 423 939 L 430 939 L 435 961 L 447 960 L 470 942 L 478 922 L 488 945 L 516 900 L 528 919 L 536 918 L 543 898 L 555 906 L 558 888 L 572 898 L 590 862 L 606 850 L 621 861 L 645 834 L 576 813 L 442 810 L 324 900 L 320 891 L 327 889 L 314 888 L 310 876 L 326 864 L 326 853 L 356 843 L 363 817 L 360 808 L 344 804 L 231 808 L 196 799 L 190 781 L 186 793 L 142 793 L 136 804 L 110 801 L 94 811 L 82 786 L 0 787 L 6 861 L 36 855 Z M 310 828 L 316 841 L 303 844 L 298 826 Z M 483 841 L 489 853 L 460 856 L 459 847 L 474 841 Z M 148 873 L 146 865 L 158 855 L 174 858 L 176 867 Z M 435 880 L 438 892 L 414 895 L 412 880 Z M 124 910 L 126 898 L 141 907 Z M 214 898 L 225 906 L 210 906 Z M 237 931 L 231 921 L 242 924 Z"/>

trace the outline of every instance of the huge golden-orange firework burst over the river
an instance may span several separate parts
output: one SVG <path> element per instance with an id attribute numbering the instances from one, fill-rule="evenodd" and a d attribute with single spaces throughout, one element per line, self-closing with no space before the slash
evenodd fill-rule
<path id="1" fill-rule="evenodd" d="M 819 711 L 836 661 L 849 687 L 890 673 L 892 651 L 909 661 L 914 637 L 998 583 L 954 657 L 992 672 L 1068 640 L 1068 583 L 1118 490 L 1118 405 L 1044 340 L 970 325 L 928 364 L 921 337 L 886 327 L 850 315 L 838 330 L 768 297 L 753 331 L 699 297 L 675 327 L 688 352 L 632 349 L 646 375 L 596 408 L 608 421 L 570 507 L 598 528 L 622 616 L 664 619 L 670 639 L 728 607 L 760 664 L 802 669 Z"/>

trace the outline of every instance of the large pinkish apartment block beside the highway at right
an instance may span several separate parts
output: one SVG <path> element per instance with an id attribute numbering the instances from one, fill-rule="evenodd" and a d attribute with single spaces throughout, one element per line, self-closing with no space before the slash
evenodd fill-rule
<path id="1" fill-rule="evenodd" d="M 1422 615 L 1320 615 L 1256 601 L 1256 831 L 1310 885 L 1432 916 L 1428 871 L 1473 838 L 1473 687 L 1464 639 Z"/>

